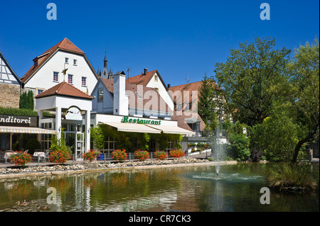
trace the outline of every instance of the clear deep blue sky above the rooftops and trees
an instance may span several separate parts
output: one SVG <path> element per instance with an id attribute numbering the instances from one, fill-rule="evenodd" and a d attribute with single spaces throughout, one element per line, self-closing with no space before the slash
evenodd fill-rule
<path id="1" fill-rule="evenodd" d="M 57 6 L 56 21 L 46 17 L 50 2 Z M 264 2 L 270 21 L 260 19 Z M 0 50 L 18 77 L 63 38 L 84 51 L 95 70 L 103 67 L 107 47 L 113 72 L 129 67 L 131 77 L 145 67 L 158 69 L 171 86 L 213 75 L 231 48 L 257 36 L 292 50 L 319 39 L 319 0 L 1 0 L 0 15 Z"/>

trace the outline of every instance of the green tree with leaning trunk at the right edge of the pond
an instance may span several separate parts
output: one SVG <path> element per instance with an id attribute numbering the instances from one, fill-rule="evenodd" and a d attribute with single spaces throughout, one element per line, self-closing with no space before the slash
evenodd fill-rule
<path id="1" fill-rule="evenodd" d="M 288 111 L 297 123 L 299 141 L 294 147 L 292 162 L 299 150 L 319 136 L 319 41 L 300 45 L 289 64 Z"/>

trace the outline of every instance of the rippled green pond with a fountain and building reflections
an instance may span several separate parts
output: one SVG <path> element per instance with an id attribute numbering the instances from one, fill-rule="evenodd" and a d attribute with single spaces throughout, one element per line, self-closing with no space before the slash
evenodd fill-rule
<path id="1" fill-rule="evenodd" d="M 270 204 L 262 205 L 269 166 L 226 164 L 218 176 L 214 165 L 203 165 L 0 179 L 0 212 L 319 211 L 319 189 L 270 191 Z M 319 183 L 319 164 L 311 167 Z"/>

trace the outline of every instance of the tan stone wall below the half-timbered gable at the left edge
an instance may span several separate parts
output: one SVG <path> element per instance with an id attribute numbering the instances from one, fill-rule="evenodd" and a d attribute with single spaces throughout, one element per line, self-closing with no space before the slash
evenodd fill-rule
<path id="1" fill-rule="evenodd" d="M 0 83 L 0 107 L 18 108 L 19 98 L 19 85 Z"/>

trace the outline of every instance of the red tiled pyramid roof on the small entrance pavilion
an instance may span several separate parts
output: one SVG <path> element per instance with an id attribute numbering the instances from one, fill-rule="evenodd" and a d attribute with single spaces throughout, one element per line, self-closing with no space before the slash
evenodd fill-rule
<path id="1" fill-rule="evenodd" d="M 80 89 L 75 88 L 75 86 L 68 84 L 68 82 L 63 81 L 59 84 L 43 91 L 41 94 L 35 96 L 35 98 L 43 98 L 46 96 L 70 96 L 75 98 L 85 98 L 85 99 L 93 99 L 89 94 L 85 94 Z"/>

